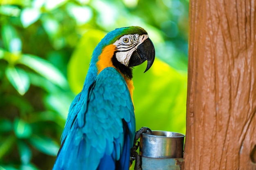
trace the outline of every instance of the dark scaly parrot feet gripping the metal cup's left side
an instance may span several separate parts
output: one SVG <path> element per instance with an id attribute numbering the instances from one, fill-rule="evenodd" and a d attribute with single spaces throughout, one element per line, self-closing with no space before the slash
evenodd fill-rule
<path id="1" fill-rule="evenodd" d="M 135 166 L 134 166 L 134 170 L 142 170 L 141 168 L 141 156 L 138 154 L 137 149 L 139 148 L 139 141 L 137 142 L 137 140 L 139 139 L 140 135 L 142 135 L 142 133 L 146 133 L 147 131 L 150 132 L 150 134 L 152 134 L 152 130 L 150 130 L 150 128 L 146 128 L 146 127 L 142 127 L 140 128 L 136 133 L 135 133 L 135 137 L 134 137 L 134 141 L 133 141 L 133 146 L 131 148 L 131 159 L 130 159 L 130 163 L 132 164 L 132 161 L 135 160 Z M 137 143 L 137 145 L 136 145 Z"/>

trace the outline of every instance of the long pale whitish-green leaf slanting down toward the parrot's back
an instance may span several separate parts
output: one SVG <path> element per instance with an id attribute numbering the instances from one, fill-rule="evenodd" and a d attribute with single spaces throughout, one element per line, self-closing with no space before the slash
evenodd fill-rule
<path id="1" fill-rule="evenodd" d="M 23 54 L 19 62 L 30 67 L 61 88 L 67 88 L 67 80 L 65 79 L 64 75 L 56 67 L 54 67 L 54 65 L 46 60 L 34 55 Z"/>

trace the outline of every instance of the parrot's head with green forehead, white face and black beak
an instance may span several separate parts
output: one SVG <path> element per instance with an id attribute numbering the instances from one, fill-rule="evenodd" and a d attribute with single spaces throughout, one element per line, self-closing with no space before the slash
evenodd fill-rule
<path id="1" fill-rule="evenodd" d="M 139 26 L 129 26 L 109 32 L 97 45 L 98 73 L 108 66 L 115 67 L 126 78 L 132 78 L 132 67 L 148 61 L 146 71 L 155 60 L 155 48 L 148 33 Z"/>

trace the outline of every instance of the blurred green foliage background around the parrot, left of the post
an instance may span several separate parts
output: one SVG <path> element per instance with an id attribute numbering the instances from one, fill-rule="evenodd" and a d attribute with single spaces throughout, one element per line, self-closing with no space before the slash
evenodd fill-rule
<path id="1" fill-rule="evenodd" d="M 134 68 L 137 130 L 185 134 L 189 0 L 0 0 L 0 170 L 51 170 L 94 47 L 141 26 L 156 50 Z"/>

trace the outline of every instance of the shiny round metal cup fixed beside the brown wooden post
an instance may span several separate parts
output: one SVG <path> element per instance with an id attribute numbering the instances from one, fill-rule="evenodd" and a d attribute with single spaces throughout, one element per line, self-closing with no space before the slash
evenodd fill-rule
<path id="1" fill-rule="evenodd" d="M 152 131 L 140 137 L 139 153 L 150 158 L 182 158 L 185 135 L 168 131 Z"/>

